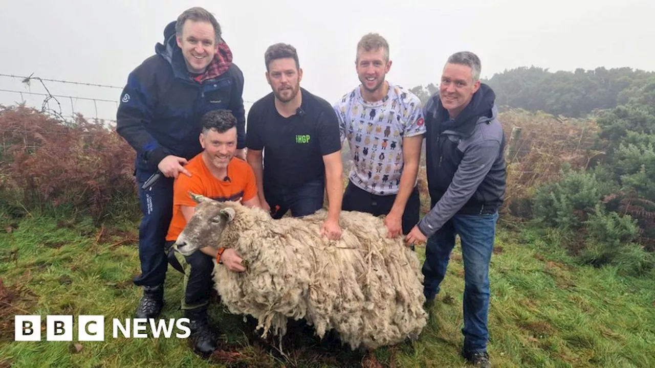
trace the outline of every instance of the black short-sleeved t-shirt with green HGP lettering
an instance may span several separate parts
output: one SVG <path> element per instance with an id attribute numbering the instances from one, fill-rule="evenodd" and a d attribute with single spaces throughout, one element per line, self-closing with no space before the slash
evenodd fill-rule
<path id="1" fill-rule="evenodd" d="M 301 91 L 301 112 L 288 118 L 278 113 L 272 92 L 248 112 L 246 147 L 264 149 L 267 186 L 293 187 L 324 177 L 323 156 L 341 149 L 339 121 L 332 106 Z"/>

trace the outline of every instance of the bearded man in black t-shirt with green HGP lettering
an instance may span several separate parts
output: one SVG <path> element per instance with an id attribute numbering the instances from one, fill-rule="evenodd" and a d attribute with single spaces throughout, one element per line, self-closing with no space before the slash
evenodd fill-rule
<path id="1" fill-rule="evenodd" d="M 303 69 L 293 46 L 269 46 L 264 61 L 272 92 L 252 105 L 246 130 L 259 201 L 275 219 L 288 210 L 305 216 L 322 208 L 327 185 L 321 233 L 339 239 L 343 165 L 337 115 L 326 100 L 300 88 Z"/>

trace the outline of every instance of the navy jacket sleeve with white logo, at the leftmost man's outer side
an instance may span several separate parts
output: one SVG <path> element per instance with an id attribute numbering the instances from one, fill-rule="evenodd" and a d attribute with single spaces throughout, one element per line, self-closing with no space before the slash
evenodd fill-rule
<path id="1" fill-rule="evenodd" d="M 155 103 L 153 88 L 139 77 L 138 71 L 130 73 L 116 114 L 116 131 L 151 168 L 170 154 L 145 130 L 145 124 L 153 119 Z"/>

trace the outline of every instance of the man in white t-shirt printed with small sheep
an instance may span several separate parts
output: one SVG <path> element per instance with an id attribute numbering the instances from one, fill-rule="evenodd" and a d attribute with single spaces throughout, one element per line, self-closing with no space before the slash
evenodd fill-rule
<path id="1" fill-rule="evenodd" d="M 356 57 L 362 84 L 334 109 L 353 160 L 342 208 L 386 215 L 388 236 L 394 237 L 419 222 L 416 181 L 425 126 L 421 100 L 384 80 L 390 67 L 386 40 L 370 33 L 362 37 Z"/>

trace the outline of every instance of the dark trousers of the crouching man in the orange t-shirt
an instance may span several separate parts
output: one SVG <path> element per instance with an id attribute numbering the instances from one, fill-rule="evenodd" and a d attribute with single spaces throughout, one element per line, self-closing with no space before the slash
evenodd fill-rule
<path id="1" fill-rule="evenodd" d="M 214 258 L 196 250 L 191 255 L 181 255 L 172 248 L 175 242 L 166 242 L 168 262 L 184 274 L 181 301 L 182 310 L 206 308 L 209 304 L 210 291 L 214 285 Z"/>

